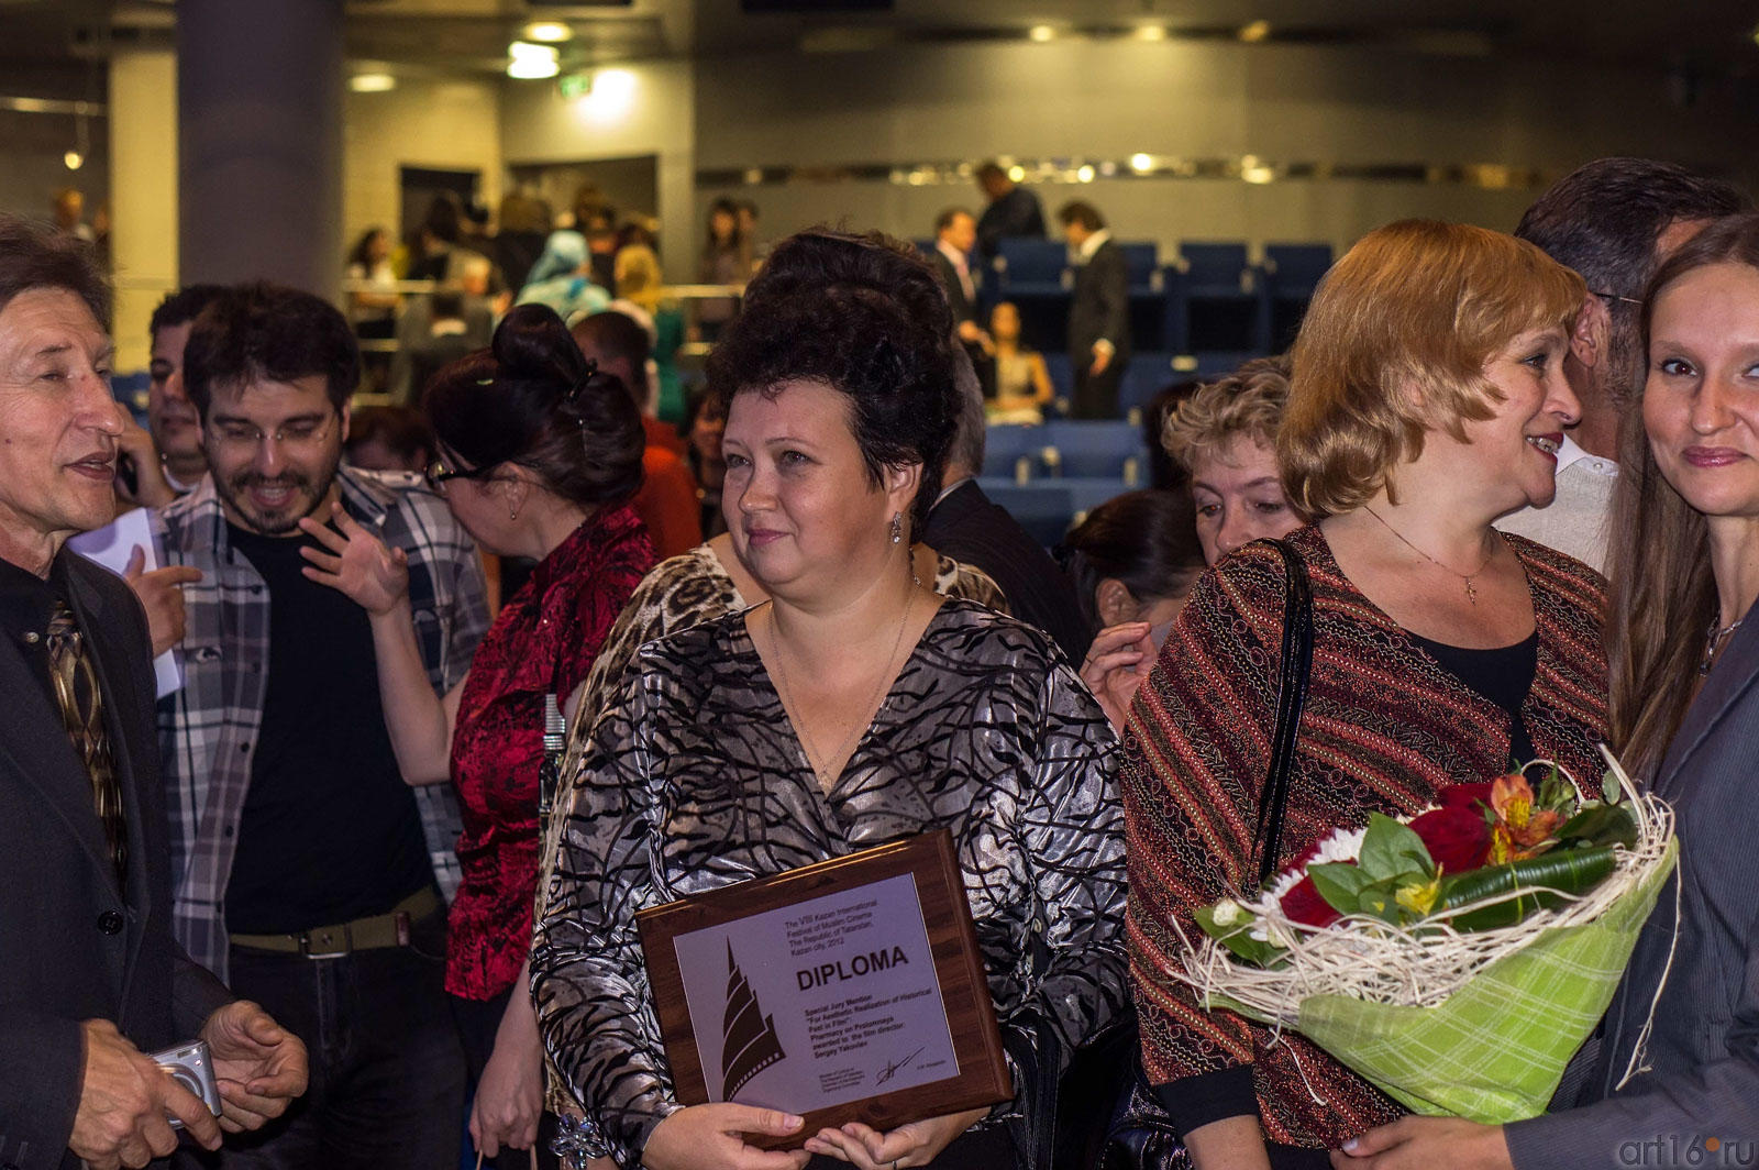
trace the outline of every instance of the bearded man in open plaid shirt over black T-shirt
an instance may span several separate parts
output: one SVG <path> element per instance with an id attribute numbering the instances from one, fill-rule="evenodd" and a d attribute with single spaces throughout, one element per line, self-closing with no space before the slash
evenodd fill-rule
<path id="1" fill-rule="evenodd" d="M 443 994 L 457 883 L 449 785 L 410 788 L 364 612 L 304 577 L 299 519 L 341 505 L 408 556 L 434 691 L 487 626 L 477 549 L 413 477 L 341 468 L 359 352 L 315 296 L 229 290 L 192 327 L 185 382 L 209 475 L 158 516 L 185 588 L 185 686 L 158 709 L 174 925 L 311 1049 L 311 1089 L 227 1166 L 456 1159 L 463 1052 Z M 438 887 L 438 888 L 436 888 Z"/>

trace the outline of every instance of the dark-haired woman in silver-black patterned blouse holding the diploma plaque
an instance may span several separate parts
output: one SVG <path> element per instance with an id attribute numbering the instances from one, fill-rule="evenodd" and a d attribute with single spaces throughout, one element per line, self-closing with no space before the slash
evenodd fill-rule
<path id="1" fill-rule="evenodd" d="M 682 1107 L 635 915 L 691 894 L 946 829 L 1015 1087 L 1122 1006 L 1105 716 L 1048 635 L 911 570 L 959 406 L 952 336 L 913 253 L 807 232 L 774 252 L 711 355 L 734 551 L 770 602 L 647 644 L 568 778 L 533 989 L 593 1154 L 654 1170 L 1017 1165 L 1018 1098 L 888 1133 Z M 756 1145 L 776 1138 L 786 1149 Z"/>

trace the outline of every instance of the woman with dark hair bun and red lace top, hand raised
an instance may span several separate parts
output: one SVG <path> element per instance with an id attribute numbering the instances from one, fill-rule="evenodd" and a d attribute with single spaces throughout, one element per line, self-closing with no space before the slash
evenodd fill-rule
<path id="1" fill-rule="evenodd" d="M 427 387 L 440 457 L 427 482 L 489 552 L 538 561 L 482 639 L 470 674 L 434 698 L 410 616 L 408 565 L 336 516 L 306 519 L 313 581 L 371 616 L 378 688 L 403 778 L 450 779 L 464 813 L 464 880 L 452 903 L 447 991 L 477 1079 L 470 1131 L 489 1163 L 526 1166 L 538 1144 L 542 1049 L 526 955 L 538 874 L 544 697 L 586 677 L 612 619 L 654 561 L 628 507 L 642 479 L 642 422 L 549 308 L 521 304 L 491 348 Z M 547 1145 L 547 1144 L 545 1144 Z M 496 1154 L 521 1151 L 517 1158 Z M 554 1165 L 547 1149 L 540 1161 Z"/>

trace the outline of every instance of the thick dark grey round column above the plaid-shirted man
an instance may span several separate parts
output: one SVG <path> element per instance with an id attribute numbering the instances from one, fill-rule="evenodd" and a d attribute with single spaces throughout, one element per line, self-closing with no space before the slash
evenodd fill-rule
<path id="1" fill-rule="evenodd" d="M 183 283 L 339 294 L 343 0 L 179 0 Z"/>

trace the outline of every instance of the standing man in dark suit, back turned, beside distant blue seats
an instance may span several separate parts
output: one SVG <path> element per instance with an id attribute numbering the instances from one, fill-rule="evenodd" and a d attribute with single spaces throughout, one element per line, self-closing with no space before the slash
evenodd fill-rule
<path id="1" fill-rule="evenodd" d="M 1075 369 L 1077 419 L 1115 419 L 1117 387 L 1129 364 L 1129 276 L 1124 250 L 1112 243 L 1105 220 L 1085 202 L 1057 211 L 1075 262 L 1069 299 L 1069 366 Z"/>

